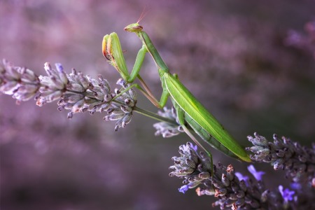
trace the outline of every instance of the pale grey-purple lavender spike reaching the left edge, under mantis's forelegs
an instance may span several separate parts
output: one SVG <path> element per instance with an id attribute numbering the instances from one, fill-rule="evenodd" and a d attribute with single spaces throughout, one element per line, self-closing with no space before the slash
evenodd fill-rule
<path id="1" fill-rule="evenodd" d="M 102 76 L 95 80 L 76 69 L 66 74 L 62 64 L 55 64 L 54 69 L 48 62 L 44 69 L 47 76 L 36 76 L 29 69 L 3 60 L 0 64 L 0 92 L 12 94 L 18 101 L 36 96 L 38 106 L 58 100 L 58 110 L 69 110 L 68 118 L 85 111 L 91 114 L 107 111 L 109 116 L 104 119 L 117 120 L 115 130 L 130 123 L 137 95 L 124 80 L 118 80 L 118 85 L 122 86 L 120 90 L 111 92 L 109 82 Z"/>

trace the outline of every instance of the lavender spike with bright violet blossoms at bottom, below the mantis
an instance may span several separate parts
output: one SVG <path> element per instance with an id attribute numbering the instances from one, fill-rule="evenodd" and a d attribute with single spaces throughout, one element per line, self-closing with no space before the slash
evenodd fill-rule
<path id="1" fill-rule="evenodd" d="M 262 182 L 264 172 L 256 171 L 253 165 L 248 171 L 253 174 L 255 180 L 235 172 L 232 165 L 225 167 L 218 163 L 214 167 L 211 176 L 210 160 L 204 153 L 198 154 L 188 143 L 179 147 L 181 157 L 174 157 L 174 169 L 169 176 L 177 176 L 184 179 L 179 192 L 186 193 L 190 188 L 198 186 L 197 195 L 214 195 L 218 200 L 213 206 L 221 209 L 294 209 L 301 203 L 300 197 L 293 195 L 295 191 L 279 189 L 268 190 Z M 308 206 L 310 203 L 304 203 Z"/>

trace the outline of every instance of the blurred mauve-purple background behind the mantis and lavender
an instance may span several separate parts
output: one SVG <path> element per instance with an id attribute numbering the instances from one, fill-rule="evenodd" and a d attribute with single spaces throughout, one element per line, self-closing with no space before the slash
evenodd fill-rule
<path id="1" fill-rule="evenodd" d="M 151 36 L 172 73 L 214 113 L 242 145 L 258 132 L 310 146 L 315 129 L 315 50 L 309 33 L 315 1 L 5 1 L 0 0 L 0 58 L 45 74 L 60 62 L 112 87 L 119 76 L 106 63 L 104 34 L 120 36 L 132 67 L 141 43 L 123 27 L 137 22 Z M 313 31 L 314 32 L 314 31 Z M 160 79 L 150 58 L 141 72 L 156 95 Z M 139 95 L 138 106 L 156 112 Z M 154 120 L 135 113 L 114 132 L 104 114 L 66 119 L 57 104 L 20 106 L 0 95 L 1 203 L 13 209 L 210 209 L 213 197 L 178 192 L 171 158 L 189 141 L 155 137 Z M 212 150 L 213 151 L 213 150 Z M 214 161 L 246 164 L 213 151 Z M 265 183 L 288 183 L 269 170 Z"/>

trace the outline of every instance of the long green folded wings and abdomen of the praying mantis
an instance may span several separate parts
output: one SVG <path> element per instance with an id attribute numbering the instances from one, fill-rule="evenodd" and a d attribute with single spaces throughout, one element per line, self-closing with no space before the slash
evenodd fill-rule
<path id="1" fill-rule="evenodd" d="M 176 75 L 164 73 L 162 87 L 167 89 L 179 115 L 208 144 L 233 157 L 250 162 L 244 149 L 230 136 L 224 127 L 179 81 Z M 181 111 L 183 110 L 183 111 Z M 183 123 L 183 122 L 182 122 Z"/>

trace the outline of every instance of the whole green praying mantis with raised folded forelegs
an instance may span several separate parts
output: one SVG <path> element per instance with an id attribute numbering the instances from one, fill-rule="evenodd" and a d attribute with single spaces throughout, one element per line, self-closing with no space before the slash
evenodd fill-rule
<path id="1" fill-rule="evenodd" d="M 165 106 L 167 99 L 170 97 L 184 132 L 186 132 L 186 134 L 188 134 L 188 136 L 202 149 L 204 149 L 204 147 L 194 137 L 192 132 L 190 132 L 191 129 L 198 134 L 201 139 L 207 142 L 207 144 L 225 153 L 225 155 L 237 158 L 238 160 L 251 162 L 251 159 L 248 157 L 246 151 L 244 151 L 244 148 L 232 138 L 218 120 L 216 120 L 216 118 L 214 118 L 214 116 L 212 116 L 211 113 L 209 113 L 209 111 L 207 111 L 207 109 L 205 109 L 193 94 L 181 83 L 178 76 L 169 73 L 167 65 L 162 60 L 162 57 L 160 57 L 158 50 L 153 45 L 148 34 L 146 34 L 143 27 L 139 25 L 139 21 L 125 27 L 125 31 L 137 34 L 142 43 L 142 47 L 138 52 L 131 73 L 127 70 L 123 50 L 118 35 L 115 32 L 104 36 L 102 51 L 106 59 L 109 59 L 109 62 L 117 69 L 120 76 L 127 83 L 133 83 L 134 80 L 138 78 L 144 87 L 143 89 L 139 84 L 134 83 L 130 85 L 129 88 L 137 87 L 137 89 L 143 92 L 144 95 L 159 109 Z M 162 83 L 162 95 L 160 101 L 155 99 L 139 74 L 147 52 L 153 58 L 160 75 Z M 213 165 L 211 153 L 206 149 L 204 149 L 204 151 L 206 151 L 207 155 L 211 158 L 211 165 Z"/>

